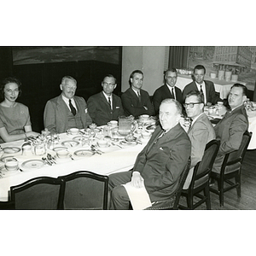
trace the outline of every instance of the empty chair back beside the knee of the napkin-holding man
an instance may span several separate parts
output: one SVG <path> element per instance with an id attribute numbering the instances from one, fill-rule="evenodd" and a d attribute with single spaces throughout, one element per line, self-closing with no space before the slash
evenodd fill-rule
<path id="1" fill-rule="evenodd" d="M 79 171 L 59 178 L 64 181 L 63 209 L 107 210 L 108 176 Z"/>

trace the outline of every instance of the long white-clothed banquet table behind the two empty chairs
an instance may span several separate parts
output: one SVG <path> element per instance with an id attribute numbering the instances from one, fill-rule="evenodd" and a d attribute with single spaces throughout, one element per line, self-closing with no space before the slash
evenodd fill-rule
<path id="1" fill-rule="evenodd" d="M 63 143 L 65 143 L 65 147 L 68 147 L 68 144 L 70 144 L 69 142 L 76 140 L 74 137 L 75 136 L 68 135 L 67 133 L 60 134 L 60 141 L 55 144 L 55 147 L 63 147 Z M 35 155 L 33 153 L 29 155 L 22 155 L 22 150 L 15 154 L 4 153 L 0 156 L 0 170 L 1 168 L 2 170 L 4 169 L 4 158 L 14 156 L 15 159 L 19 161 L 20 171 L 2 172 L 2 178 L 0 178 L 0 201 L 9 200 L 9 189 L 11 186 L 24 183 L 33 177 L 59 177 L 82 170 L 96 172 L 102 175 L 109 175 L 113 172 L 129 171 L 135 163 L 137 154 L 148 142 L 148 139 L 143 139 L 142 137 L 139 137 L 139 139 L 139 143 L 125 143 L 121 138 L 119 142 L 110 141 L 106 148 L 97 147 L 97 149 L 100 150 L 99 154 L 89 155 L 76 155 L 76 152 L 79 152 L 80 150 L 90 150 L 89 143 L 82 145 L 82 141 L 78 140 L 78 145 L 70 145 L 67 148 L 71 153 L 73 160 L 71 157 L 67 157 L 65 159 L 56 158 L 56 164 L 52 166 L 44 164 L 44 166 L 39 168 L 26 166 L 26 163 L 29 160 L 42 160 L 42 157 L 45 157 L 46 154 L 54 156 L 56 153 L 54 150 L 47 148 L 47 152 L 44 155 Z M 96 141 L 97 138 L 95 138 L 94 142 L 91 143 L 96 143 Z M 3 149 L 9 147 L 21 148 L 23 143 L 23 140 L 12 143 L 3 143 L 1 144 L 1 147 Z"/>

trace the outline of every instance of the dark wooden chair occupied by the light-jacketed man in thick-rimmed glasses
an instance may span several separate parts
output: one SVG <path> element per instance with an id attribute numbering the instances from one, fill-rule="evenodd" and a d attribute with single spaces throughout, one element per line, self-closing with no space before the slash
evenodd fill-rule
<path id="1" fill-rule="evenodd" d="M 178 207 L 180 209 L 194 210 L 201 206 L 201 204 L 206 203 L 207 210 L 211 210 L 209 180 L 213 162 L 218 153 L 219 144 L 220 142 L 215 139 L 207 143 L 201 161 L 198 162 L 194 168 L 189 188 L 183 189 L 181 192 L 181 195 L 186 198 L 187 206 L 185 207 L 179 204 Z M 200 200 L 194 203 L 195 197 Z"/>

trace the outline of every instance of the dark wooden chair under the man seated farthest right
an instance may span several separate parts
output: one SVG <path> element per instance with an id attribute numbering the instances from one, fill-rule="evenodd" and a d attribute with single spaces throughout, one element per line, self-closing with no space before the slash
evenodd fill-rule
<path id="1" fill-rule="evenodd" d="M 220 207 L 224 206 L 224 192 L 230 189 L 236 188 L 237 196 L 241 197 L 241 163 L 251 137 L 252 132 L 245 131 L 238 150 L 225 154 L 220 173 L 211 172 L 211 178 L 218 182 L 218 189 L 210 187 L 210 191 L 218 195 Z M 235 182 L 232 178 L 235 178 Z"/>

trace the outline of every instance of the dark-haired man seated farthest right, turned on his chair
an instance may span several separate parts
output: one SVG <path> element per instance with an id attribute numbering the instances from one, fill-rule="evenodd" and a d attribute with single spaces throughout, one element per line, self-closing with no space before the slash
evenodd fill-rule
<path id="1" fill-rule="evenodd" d="M 218 154 L 212 166 L 212 172 L 220 172 L 224 156 L 241 145 L 242 135 L 248 128 L 248 119 L 243 102 L 247 100 L 247 87 L 242 84 L 234 84 L 230 89 L 228 102 L 231 111 L 225 113 L 214 127 L 216 138 L 220 140 Z"/>

